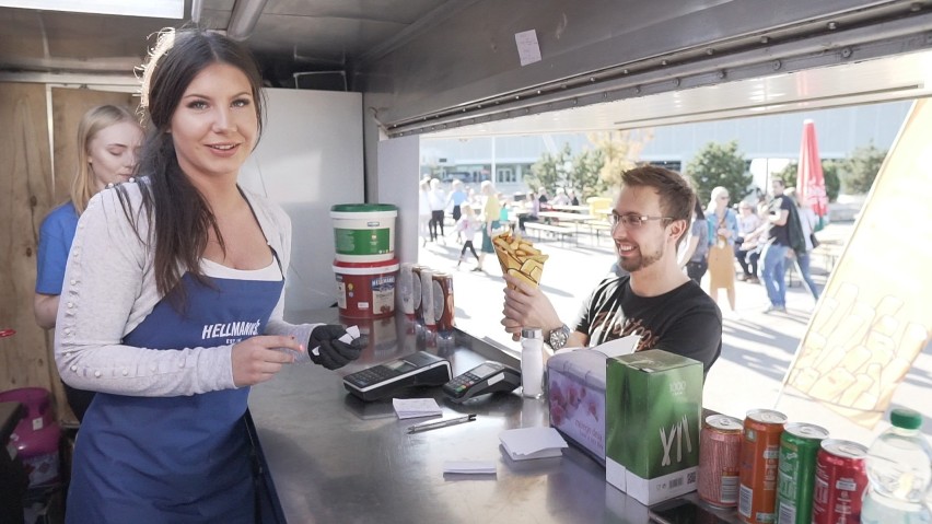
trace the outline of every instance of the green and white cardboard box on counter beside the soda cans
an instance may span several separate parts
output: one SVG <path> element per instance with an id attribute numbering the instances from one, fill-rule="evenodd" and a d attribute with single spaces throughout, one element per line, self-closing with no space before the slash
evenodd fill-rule
<path id="1" fill-rule="evenodd" d="M 695 490 L 702 363 L 651 349 L 606 365 L 606 480 L 643 504 Z"/>

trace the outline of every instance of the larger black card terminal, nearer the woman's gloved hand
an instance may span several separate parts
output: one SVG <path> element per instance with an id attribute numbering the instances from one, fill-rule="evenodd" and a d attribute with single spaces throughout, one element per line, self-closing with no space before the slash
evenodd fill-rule
<path id="1" fill-rule="evenodd" d="M 410 386 L 440 386 L 450 381 L 450 361 L 426 351 L 357 371 L 343 386 L 363 400 L 376 400 Z"/>

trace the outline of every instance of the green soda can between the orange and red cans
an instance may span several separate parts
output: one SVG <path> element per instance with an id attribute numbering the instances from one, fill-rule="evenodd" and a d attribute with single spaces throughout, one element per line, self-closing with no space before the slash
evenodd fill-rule
<path id="1" fill-rule="evenodd" d="M 819 444 L 828 430 L 807 423 L 790 423 L 780 436 L 777 522 L 809 524 L 813 517 L 813 489 Z"/>

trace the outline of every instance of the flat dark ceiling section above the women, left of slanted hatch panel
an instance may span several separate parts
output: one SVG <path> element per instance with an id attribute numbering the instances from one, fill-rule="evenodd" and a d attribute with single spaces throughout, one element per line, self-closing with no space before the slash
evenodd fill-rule
<path id="1" fill-rule="evenodd" d="M 226 30 L 235 0 L 186 1 L 185 20 L 0 8 L 0 72 L 127 75 L 160 28 L 190 20 Z M 245 40 L 276 86 L 294 73 L 346 71 L 469 0 L 268 0 Z"/>

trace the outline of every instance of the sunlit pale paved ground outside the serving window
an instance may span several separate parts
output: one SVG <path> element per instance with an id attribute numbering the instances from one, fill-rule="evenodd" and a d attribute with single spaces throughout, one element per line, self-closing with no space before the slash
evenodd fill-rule
<path id="1" fill-rule="evenodd" d="M 852 231 L 852 223 L 835 223 L 819 233 L 824 243 L 843 245 Z M 478 236 L 477 236 L 478 240 Z M 608 272 L 615 260 L 614 244 L 583 234 L 579 245 L 572 242 L 561 245 L 557 240 L 535 241 L 535 245 L 550 255 L 544 269 L 541 288 L 551 299 L 561 317 L 570 324 L 582 300 Z M 420 264 L 454 275 L 457 325 L 479 338 L 519 351 L 499 324 L 502 311 L 501 270 L 498 261 L 489 256 L 485 272 L 474 272 L 471 255 L 459 268 L 456 267 L 461 245 L 447 238 L 446 244 L 429 243 L 422 247 Z M 840 248 L 837 249 L 840 253 Z M 468 255 L 468 253 L 467 253 Z M 815 256 L 813 276 L 819 288 L 828 278 L 829 260 Z M 704 284 L 706 282 L 703 282 Z M 707 408 L 727 415 L 743 417 L 754 408 L 778 408 L 792 421 L 807 421 L 826 426 L 836 438 L 869 444 L 873 435 L 885 426 L 873 431 L 865 430 L 835 416 L 831 411 L 808 399 L 779 395 L 784 374 L 795 354 L 800 339 L 806 333 L 815 301 L 799 276 L 792 277 L 788 289 L 788 312 L 766 315 L 769 304 L 762 284 L 737 282 L 737 314 L 725 313 L 722 329 L 722 356 L 709 372 L 706 381 L 703 404 Z M 727 310 L 724 293 L 721 305 Z M 927 347 L 909 375 L 894 396 L 895 406 L 907 406 L 924 414 L 923 430 L 932 434 L 932 351 Z M 779 398 L 778 398 L 779 397 Z"/>

